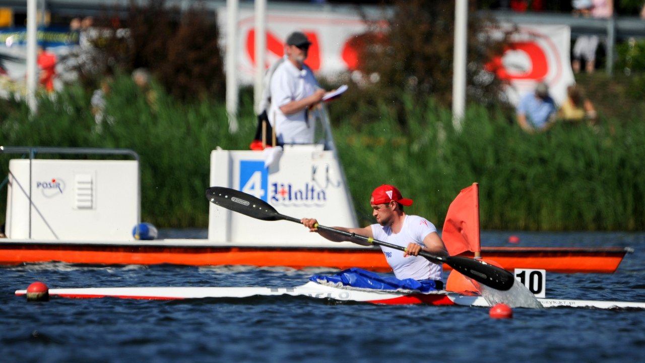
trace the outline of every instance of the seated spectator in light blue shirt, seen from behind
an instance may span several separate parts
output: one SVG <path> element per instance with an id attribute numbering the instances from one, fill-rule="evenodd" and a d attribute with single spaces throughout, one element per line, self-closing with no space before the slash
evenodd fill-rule
<path id="1" fill-rule="evenodd" d="M 549 87 L 541 82 L 535 87 L 535 92 L 520 100 L 517 123 L 528 132 L 546 131 L 553 125 L 556 111 L 555 101 L 549 96 Z"/>

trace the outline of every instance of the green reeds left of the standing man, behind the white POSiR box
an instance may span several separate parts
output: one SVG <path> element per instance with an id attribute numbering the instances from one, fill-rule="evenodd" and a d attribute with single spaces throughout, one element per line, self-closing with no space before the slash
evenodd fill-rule
<path id="1" fill-rule="evenodd" d="M 146 95 L 128 76 L 115 78 L 111 88 L 101 127 L 90 110 L 91 94 L 81 87 L 67 87 L 54 100 L 39 99 L 34 116 L 29 116 L 24 103 L 0 101 L 2 145 L 135 150 L 141 161 L 142 219 L 158 227 L 207 225 L 204 190 L 208 187 L 210 151 L 218 146 L 248 148 L 255 131 L 251 107 L 243 107 L 248 112 L 239 117 L 240 132 L 230 134 L 224 105 L 178 103 L 155 85 L 155 107 L 150 107 Z M 19 157 L 1 156 L 3 176 L 7 175 L 8 160 Z M 6 188 L 0 193 L 6 195 Z M 5 196 L 0 200 L 4 216 Z"/>

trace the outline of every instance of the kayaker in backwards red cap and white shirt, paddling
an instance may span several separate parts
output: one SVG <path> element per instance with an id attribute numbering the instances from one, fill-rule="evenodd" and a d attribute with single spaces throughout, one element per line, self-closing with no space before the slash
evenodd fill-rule
<path id="1" fill-rule="evenodd" d="M 442 265 L 419 256 L 419 252 L 423 250 L 439 256 L 448 256 L 448 251 L 446 251 L 446 246 L 433 223 L 420 216 L 405 213 L 404 207 L 409 207 L 412 202 L 411 199 L 403 198 L 397 187 L 381 185 L 374 189 L 370 198 L 372 215 L 376 218 L 377 223 L 363 228 L 333 228 L 406 247 L 404 252 L 381 246 L 396 278 L 417 280 L 426 287 L 441 290 L 443 288 Z M 364 240 L 348 239 L 341 234 L 319 231 L 315 228 L 318 223 L 315 218 L 303 218 L 301 222 L 310 231 L 316 232 L 330 241 L 348 241 L 359 245 L 370 245 Z"/>

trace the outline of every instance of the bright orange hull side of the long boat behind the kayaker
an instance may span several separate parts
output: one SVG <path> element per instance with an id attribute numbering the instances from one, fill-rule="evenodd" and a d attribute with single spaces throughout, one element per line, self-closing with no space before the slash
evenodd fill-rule
<path id="1" fill-rule="evenodd" d="M 482 248 L 482 255 L 505 269 L 546 269 L 559 273 L 613 273 L 622 249 Z M 462 254 L 471 256 L 471 254 Z M 126 245 L 0 245 L 0 264 L 62 261 L 72 264 L 255 265 L 304 267 L 361 267 L 391 271 L 379 250 L 280 249 L 248 247 L 150 247 Z M 448 265 L 444 269 L 450 270 Z"/>

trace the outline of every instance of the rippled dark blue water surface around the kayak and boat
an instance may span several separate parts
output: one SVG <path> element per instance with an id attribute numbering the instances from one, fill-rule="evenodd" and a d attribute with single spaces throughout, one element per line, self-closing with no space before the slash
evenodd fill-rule
<path id="1" fill-rule="evenodd" d="M 618 271 L 547 275 L 547 297 L 645 302 L 645 233 L 482 234 L 504 245 L 633 247 Z M 293 297 L 146 301 L 14 296 L 50 287 L 300 285 L 314 273 L 276 267 L 2 267 L 0 362 L 638 362 L 645 311 L 374 306 Z"/>

